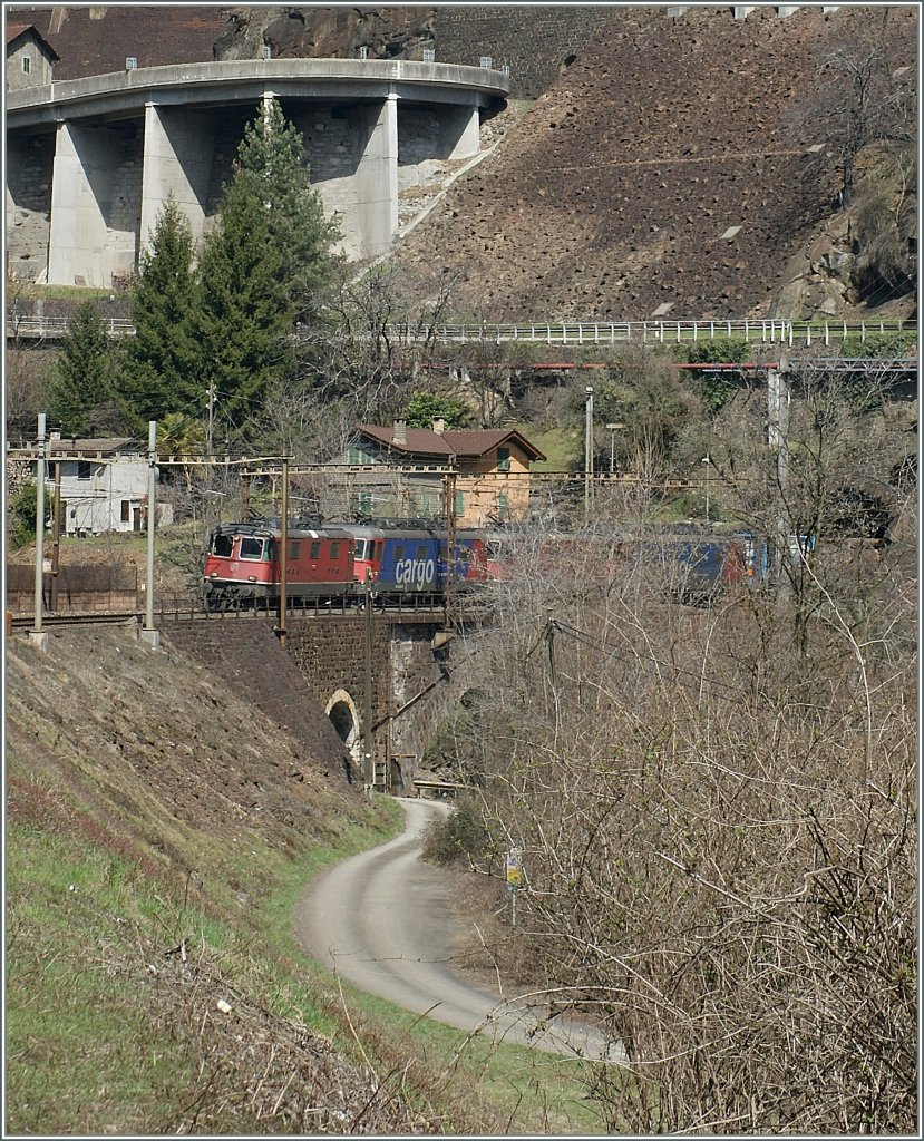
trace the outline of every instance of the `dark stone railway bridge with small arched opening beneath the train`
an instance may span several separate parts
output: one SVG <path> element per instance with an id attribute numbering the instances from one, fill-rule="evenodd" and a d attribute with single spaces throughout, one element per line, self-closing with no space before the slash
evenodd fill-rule
<path id="1" fill-rule="evenodd" d="M 439 614 L 376 615 L 372 623 L 374 783 L 410 788 L 428 728 L 453 685 L 452 641 L 433 649 Z M 274 616 L 165 621 L 164 642 L 184 650 L 302 743 L 315 762 L 363 779 L 366 686 L 362 615 L 290 614 L 285 646 Z M 439 639 L 436 639 L 439 641 Z M 329 776 L 337 776 L 329 771 Z"/>

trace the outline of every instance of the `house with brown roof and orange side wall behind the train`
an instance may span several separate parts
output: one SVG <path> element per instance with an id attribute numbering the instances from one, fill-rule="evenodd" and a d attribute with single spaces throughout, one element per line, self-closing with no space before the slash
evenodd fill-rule
<path id="1" fill-rule="evenodd" d="M 364 515 L 432 517 L 446 513 L 446 476 L 454 479 L 460 527 L 486 527 L 524 518 L 529 507 L 529 464 L 543 453 L 516 429 L 390 428 L 359 424 L 349 442 L 350 510 Z"/>

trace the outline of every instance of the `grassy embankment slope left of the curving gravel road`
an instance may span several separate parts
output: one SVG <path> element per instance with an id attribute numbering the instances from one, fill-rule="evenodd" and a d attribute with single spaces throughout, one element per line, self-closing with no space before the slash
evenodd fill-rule
<path id="1" fill-rule="evenodd" d="M 7 665 L 8 1132 L 595 1130 L 567 1065 L 299 952 L 303 884 L 397 804 L 324 780 L 169 645 L 56 631 Z"/>

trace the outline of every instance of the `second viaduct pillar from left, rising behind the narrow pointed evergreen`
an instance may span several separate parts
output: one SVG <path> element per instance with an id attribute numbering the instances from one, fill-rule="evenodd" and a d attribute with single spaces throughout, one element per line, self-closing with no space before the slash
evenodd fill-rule
<path id="1" fill-rule="evenodd" d="M 213 149 L 202 115 L 186 107 L 145 105 L 140 225 L 145 246 L 171 194 L 189 221 L 193 242 L 202 238 Z"/>

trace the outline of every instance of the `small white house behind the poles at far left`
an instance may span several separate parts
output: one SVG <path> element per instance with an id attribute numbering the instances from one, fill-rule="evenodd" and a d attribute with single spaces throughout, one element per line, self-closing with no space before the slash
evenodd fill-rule
<path id="1" fill-rule="evenodd" d="M 55 467 L 60 464 L 63 534 L 146 528 L 148 475 L 143 447 L 135 439 L 60 439 L 52 432 L 48 478 L 55 479 Z M 156 510 L 159 525 L 173 521 L 170 504 L 159 503 Z"/>

